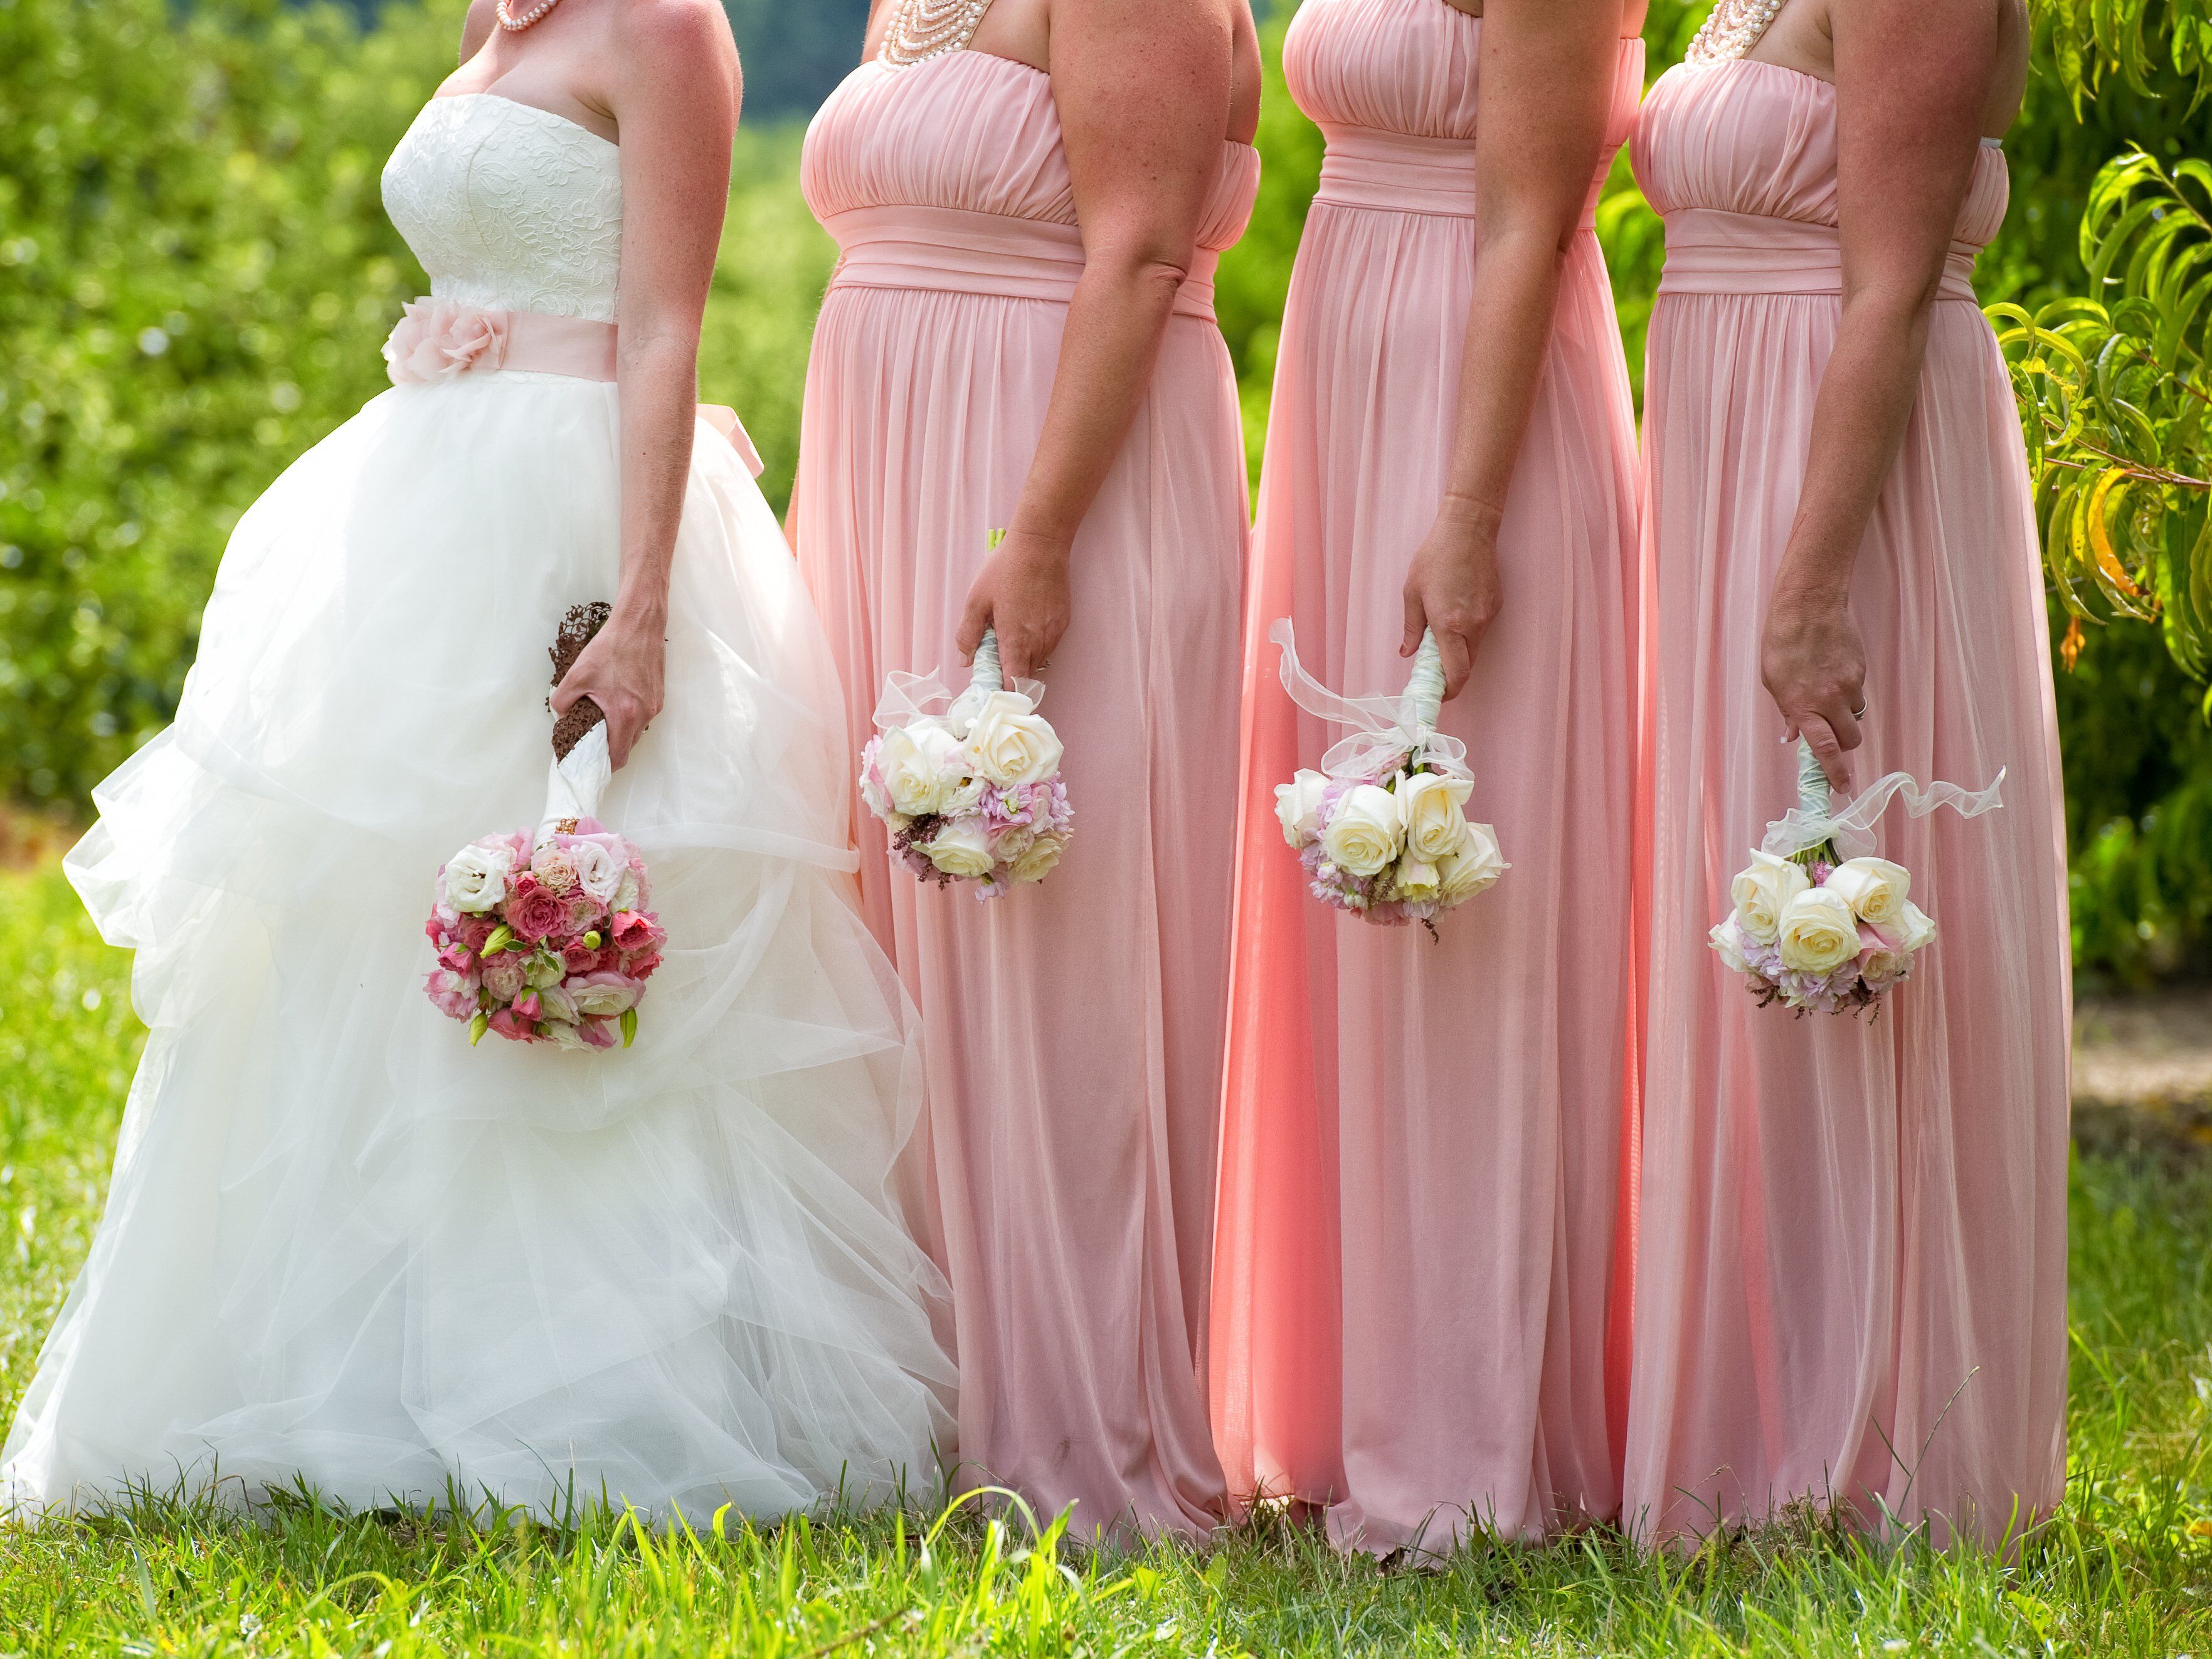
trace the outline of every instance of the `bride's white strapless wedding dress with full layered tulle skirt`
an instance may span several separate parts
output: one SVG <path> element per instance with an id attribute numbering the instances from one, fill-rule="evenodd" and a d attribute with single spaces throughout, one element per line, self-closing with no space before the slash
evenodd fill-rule
<path id="1" fill-rule="evenodd" d="M 440 299 L 613 321 L 622 173 L 586 128 L 436 100 L 385 201 Z M 615 580 L 615 387 L 562 374 L 394 387 L 239 522 L 177 723 L 69 856 L 153 1035 L 0 1513 L 305 1482 L 703 1522 L 949 1464 L 841 690 L 706 425 L 666 710 L 602 805 L 670 933 L 637 1046 L 471 1048 L 422 995 L 431 878 L 538 821 L 546 648 Z"/>

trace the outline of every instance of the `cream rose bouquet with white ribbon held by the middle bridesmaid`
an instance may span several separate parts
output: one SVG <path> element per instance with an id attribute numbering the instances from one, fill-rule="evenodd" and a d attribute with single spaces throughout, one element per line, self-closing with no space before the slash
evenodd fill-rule
<path id="1" fill-rule="evenodd" d="M 1475 792 L 1467 748 L 1436 730 L 1444 703 L 1436 635 L 1422 635 L 1402 697 L 1325 690 L 1298 666 L 1287 617 L 1267 637 L 1283 648 L 1292 701 L 1354 728 L 1321 759 L 1321 772 L 1298 772 L 1274 792 L 1276 823 L 1314 898 L 1367 922 L 1420 922 L 1436 936 L 1442 911 L 1511 869 L 1498 834 L 1467 816 Z"/>

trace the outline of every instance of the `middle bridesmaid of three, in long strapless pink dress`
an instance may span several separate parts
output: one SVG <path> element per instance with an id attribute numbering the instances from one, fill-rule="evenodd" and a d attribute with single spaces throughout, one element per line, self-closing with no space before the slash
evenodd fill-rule
<path id="1" fill-rule="evenodd" d="M 1641 22 L 1307 0 L 1285 44 L 1327 161 L 1245 626 L 1212 1402 L 1239 1498 L 1332 1504 L 1376 1553 L 1619 1509 L 1637 462 L 1590 210 Z M 1442 942 L 1305 894 L 1272 792 L 1332 732 L 1283 692 L 1283 615 L 1347 692 L 1396 692 L 1440 639 L 1469 812 L 1513 863 Z"/>

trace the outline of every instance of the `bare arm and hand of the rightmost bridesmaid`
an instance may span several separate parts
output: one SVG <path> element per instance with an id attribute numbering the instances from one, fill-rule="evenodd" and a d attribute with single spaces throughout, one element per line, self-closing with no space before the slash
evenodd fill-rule
<path id="1" fill-rule="evenodd" d="M 1851 0 L 1836 46 L 1836 215 L 1843 321 L 1820 374 L 1805 491 L 1759 666 L 1790 737 L 1851 787 L 1867 655 L 1851 622 L 1851 564 L 1905 440 L 1929 307 L 1973 186 L 1997 66 L 1995 0 Z"/>

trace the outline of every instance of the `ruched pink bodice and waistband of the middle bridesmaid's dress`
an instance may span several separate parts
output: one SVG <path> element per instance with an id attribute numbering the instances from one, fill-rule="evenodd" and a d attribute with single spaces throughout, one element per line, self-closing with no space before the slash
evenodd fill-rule
<path id="1" fill-rule="evenodd" d="M 1329 142 L 1321 199 L 1473 212 L 1480 58 L 1482 20 L 1444 0 L 1307 0 L 1283 42 L 1283 75 Z M 1624 40 L 1593 208 L 1641 91 L 1644 42 Z"/>

